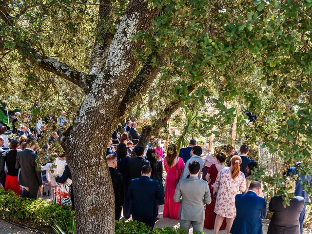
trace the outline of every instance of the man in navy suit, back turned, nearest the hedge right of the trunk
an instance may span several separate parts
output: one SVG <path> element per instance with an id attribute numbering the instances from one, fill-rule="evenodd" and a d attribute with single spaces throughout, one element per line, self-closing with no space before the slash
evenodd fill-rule
<path id="1" fill-rule="evenodd" d="M 164 198 L 159 182 L 151 179 L 152 168 L 148 165 L 142 167 L 139 178 L 130 182 L 128 196 L 131 199 L 131 214 L 134 220 L 143 222 L 154 228 L 158 207 L 156 200 Z"/>

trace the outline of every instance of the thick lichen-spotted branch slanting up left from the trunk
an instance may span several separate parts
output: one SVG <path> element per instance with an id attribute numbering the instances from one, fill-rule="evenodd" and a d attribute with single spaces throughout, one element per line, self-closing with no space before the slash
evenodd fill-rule
<path id="1" fill-rule="evenodd" d="M 33 65 L 52 72 L 61 78 L 67 79 L 72 83 L 78 85 L 86 94 L 89 92 L 94 75 L 87 75 L 76 68 L 73 68 L 65 63 L 60 62 L 52 57 L 46 57 L 33 48 L 18 48 L 20 54 L 29 59 Z"/>

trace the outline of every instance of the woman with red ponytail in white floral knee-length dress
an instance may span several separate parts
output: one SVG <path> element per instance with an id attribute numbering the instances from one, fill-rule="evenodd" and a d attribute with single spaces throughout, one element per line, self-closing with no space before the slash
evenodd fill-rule
<path id="1" fill-rule="evenodd" d="M 245 175 L 240 171 L 242 159 L 240 156 L 231 158 L 231 167 L 222 169 L 216 177 L 214 184 L 215 201 L 215 230 L 214 234 L 219 232 L 224 218 L 226 218 L 226 232 L 230 230 L 236 216 L 235 196 L 246 190 Z"/>

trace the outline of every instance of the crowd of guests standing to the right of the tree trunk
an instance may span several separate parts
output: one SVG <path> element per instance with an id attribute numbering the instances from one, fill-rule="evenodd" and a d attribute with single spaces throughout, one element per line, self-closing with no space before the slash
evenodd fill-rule
<path id="1" fill-rule="evenodd" d="M 214 234 L 220 230 L 226 230 L 227 234 L 262 234 L 267 202 L 262 183 L 252 180 L 258 163 L 248 157 L 247 145 L 243 144 L 238 152 L 233 149 L 230 162 L 226 164 L 227 156 L 222 152 L 204 158 L 195 139 L 190 140 L 188 147 L 180 149 L 179 154 L 176 145 L 168 145 L 164 158 L 150 143 L 146 146 L 145 156 L 143 147 L 135 146 L 136 157 L 127 155 L 123 142 L 115 152 L 108 146 L 107 157 L 116 156 L 114 169 L 120 174 L 119 185 L 123 185 L 118 187 L 119 190 L 114 186 L 115 195 L 119 197 L 117 220 L 123 210 L 124 218 L 132 215 L 133 219 L 154 227 L 159 205 L 164 204 L 163 217 L 179 219 L 180 227 L 186 233 L 192 226 L 194 232 L 203 231 L 205 227 L 213 229 Z M 299 166 L 300 162 L 289 168 L 288 175 L 296 175 Z M 165 189 L 163 168 L 166 172 Z M 113 178 L 113 174 L 111 176 Z M 308 194 L 300 184 L 301 180 L 311 183 L 312 176 L 302 176 L 285 185 L 288 193 L 293 195 L 290 206 L 284 208 L 280 195 L 270 200 L 269 211 L 273 212 L 273 218 L 268 234 L 302 234 Z M 123 203 L 118 194 L 123 194 Z"/>

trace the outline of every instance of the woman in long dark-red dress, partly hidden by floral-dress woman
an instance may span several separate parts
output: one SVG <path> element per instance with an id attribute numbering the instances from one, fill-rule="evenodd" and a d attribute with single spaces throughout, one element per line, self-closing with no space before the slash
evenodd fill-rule
<path id="1" fill-rule="evenodd" d="M 217 153 L 215 156 L 216 163 L 212 164 L 207 170 L 206 180 L 208 181 L 210 195 L 211 195 L 211 203 L 209 205 L 206 205 L 206 210 L 205 210 L 204 227 L 207 229 L 215 228 L 215 217 L 216 217 L 216 214 L 214 212 L 215 199 L 213 197 L 214 188 L 212 185 L 215 183 L 215 179 L 219 171 L 221 171 L 225 167 L 224 166 L 225 159 L 226 159 L 225 154 Z M 223 220 L 220 230 L 224 230 L 225 227 L 226 227 L 226 219 Z"/>

